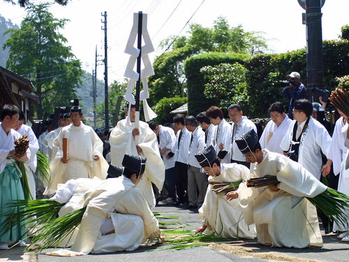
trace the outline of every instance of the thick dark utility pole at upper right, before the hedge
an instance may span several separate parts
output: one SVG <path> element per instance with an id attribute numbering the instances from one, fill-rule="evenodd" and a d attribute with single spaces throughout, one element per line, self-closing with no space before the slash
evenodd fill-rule
<path id="1" fill-rule="evenodd" d="M 320 0 L 306 0 L 306 96 L 309 101 L 313 101 L 313 87 L 324 87 L 321 16 Z"/>

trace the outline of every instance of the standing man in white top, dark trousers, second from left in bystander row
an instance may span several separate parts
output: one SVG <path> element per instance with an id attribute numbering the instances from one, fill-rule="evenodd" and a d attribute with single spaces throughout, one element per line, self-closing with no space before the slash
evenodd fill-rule
<path id="1" fill-rule="evenodd" d="M 174 168 L 176 173 L 176 190 L 178 200 L 174 205 L 188 205 L 188 159 L 189 145 L 191 142 L 191 132 L 184 125 L 184 115 L 178 114 L 173 117 L 174 126 L 179 129 L 176 143 L 167 158 L 174 158 Z"/>

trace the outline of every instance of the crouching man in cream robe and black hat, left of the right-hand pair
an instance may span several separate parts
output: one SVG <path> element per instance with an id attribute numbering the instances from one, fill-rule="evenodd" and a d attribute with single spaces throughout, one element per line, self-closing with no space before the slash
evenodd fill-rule
<path id="1" fill-rule="evenodd" d="M 246 166 L 237 163 L 221 163 L 216 158 L 216 152 L 212 146 L 195 154 L 195 157 L 209 175 L 209 182 L 237 182 L 239 180 L 246 182 L 249 177 L 249 170 Z M 215 194 L 211 189 L 211 184 L 209 184 L 205 201 L 199 209 L 202 226 L 196 233 L 214 230 L 222 238 L 255 238 L 254 225 L 247 226 L 239 201 L 230 196 L 235 192 L 230 192 L 225 196 Z M 239 189 L 236 192 L 239 192 Z"/>

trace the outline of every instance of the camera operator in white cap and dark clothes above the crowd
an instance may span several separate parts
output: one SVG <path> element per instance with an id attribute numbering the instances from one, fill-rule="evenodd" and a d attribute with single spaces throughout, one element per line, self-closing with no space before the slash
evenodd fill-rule
<path id="1" fill-rule="evenodd" d="M 301 82 L 301 75 L 297 72 L 292 72 L 287 75 L 290 85 L 283 88 L 283 97 L 290 99 L 290 108 L 288 109 L 288 117 L 293 119 L 293 103 L 299 99 L 306 99 L 306 88 Z"/>

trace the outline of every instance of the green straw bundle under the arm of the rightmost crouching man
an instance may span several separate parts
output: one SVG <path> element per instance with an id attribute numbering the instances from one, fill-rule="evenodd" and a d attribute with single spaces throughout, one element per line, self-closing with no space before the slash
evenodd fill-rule
<path id="1" fill-rule="evenodd" d="M 267 187 L 277 184 L 276 176 L 251 178 L 247 180 L 247 187 Z M 331 221 L 335 221 L 340 229 L 348 228 L 348 217 L 345 210 L 349 209 L 349 197 L 339 191 L 327 187 L 325 191 L 313 198 L 306 197 L 315 207 L 324 213 Z"/>

